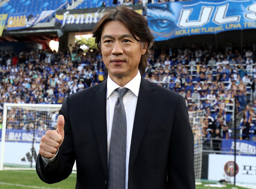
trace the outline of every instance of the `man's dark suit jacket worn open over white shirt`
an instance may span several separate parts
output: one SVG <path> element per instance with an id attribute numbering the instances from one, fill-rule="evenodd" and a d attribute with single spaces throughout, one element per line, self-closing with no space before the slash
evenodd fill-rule
<path id="1" fill-rule="evenodd" d="M 108 188 L 107 82 L 68 96 L 60 109 L 65 137 L 56 161 L 38 176 L 67 178 L 76 160 L 76 189 Z M 128 189 L 195 189 L 194 137 L 184 98 L 142 78 L 131 138 Z"/>

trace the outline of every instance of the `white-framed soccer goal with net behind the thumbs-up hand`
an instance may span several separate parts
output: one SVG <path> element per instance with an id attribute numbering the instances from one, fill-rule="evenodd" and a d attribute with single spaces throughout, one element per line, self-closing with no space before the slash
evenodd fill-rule
<path id="1" fill-rule="evenodd" d="M 0 129 L 0 170 L 35 168 L 41 137 L 57 125 L 60 107 L 4 104 Z"/>

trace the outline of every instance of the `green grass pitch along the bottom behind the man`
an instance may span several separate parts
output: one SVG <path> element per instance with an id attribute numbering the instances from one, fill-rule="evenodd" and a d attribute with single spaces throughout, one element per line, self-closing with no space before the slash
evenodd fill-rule
<path id="1" fill-rule="evenodd" d="M 41 181 L 35 170 L 11 170 L 0 171 L 0 189 L 75 189 L 76 174 L 71 174 L 69 178 L 56 184 L 45 184 Z M 196 185 L 196 189 L 218 189 Z M 227 185 L 224 189 L 231 189 L 233 185 Z M 244 189 L 235 186 L 237 189 Z"/>

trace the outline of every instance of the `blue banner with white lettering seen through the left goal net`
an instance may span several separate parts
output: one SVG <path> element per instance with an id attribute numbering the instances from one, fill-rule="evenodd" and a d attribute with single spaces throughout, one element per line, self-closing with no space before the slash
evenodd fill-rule
<path id="1" fill-rule="evenodd" d="M 35 130 L 34 142 L 40 142 L 46 131 Z M 26 131 L 23 129 L 6 129 L 5 141 L 9 142 L 33 142 L 34 131 Z M 0 129 L 0 137 L 2 130 Z M 1 140 L 0 140 L 1 141 Z"/>

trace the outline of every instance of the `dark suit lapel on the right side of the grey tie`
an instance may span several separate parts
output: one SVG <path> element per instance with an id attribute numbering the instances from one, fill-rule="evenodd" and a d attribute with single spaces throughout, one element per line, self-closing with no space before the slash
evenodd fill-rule
<path id="1" fill-rule="evenodd" d="M 142 78 L 131 136 L 129 171 L 135 161 L 147 123 L 157 99 L 157 93 L 152 92 L 154 89 L 155 87 L 151 82 Z"/>

